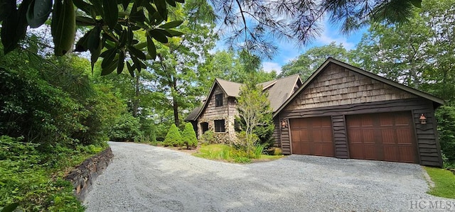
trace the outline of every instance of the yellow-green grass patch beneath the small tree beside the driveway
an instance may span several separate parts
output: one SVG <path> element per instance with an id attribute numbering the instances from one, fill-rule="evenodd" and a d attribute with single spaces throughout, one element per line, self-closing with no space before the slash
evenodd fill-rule
<path id="1" fill-rule="evenodd" d="M 277 160 L 284 157 L 283 155 L 259 155 L 257 159 L 252 159 L 246 157 L 244 152 L 239 152 L 233 147 L 228 145 L 203 145 L 200 147 L 198 152 L 193 154 L 196 157 L 202 157 L 210 160 L 223 160 L 226 162 L 237 162 L 237 163 L 249 163 L 249 162 L 260 162 L 260 161 L 269 161 Z M 255 157 L 257 152 L 255 152 Z"/>

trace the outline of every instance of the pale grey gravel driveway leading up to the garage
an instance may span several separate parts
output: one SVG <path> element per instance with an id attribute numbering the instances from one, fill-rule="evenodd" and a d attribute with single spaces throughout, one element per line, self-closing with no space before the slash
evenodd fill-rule
<path id="1" fill-rule="evenodd" d="M 109 145 L 114 160 L 87 194 L 87 211 L 428 211 L 438 201 L 455 210 L 425 193 L 417 164 L 305 155 L 230 164 Z"/>

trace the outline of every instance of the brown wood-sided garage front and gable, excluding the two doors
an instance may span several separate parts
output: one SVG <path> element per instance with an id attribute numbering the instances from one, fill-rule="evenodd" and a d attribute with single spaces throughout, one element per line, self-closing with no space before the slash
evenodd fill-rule
<path id="1" fill-rule="evenodd" d="M 434 107 L 441 105 L 443 101 L 437 97 L 425 94 L 421 91 L 405 87 L 388 79 L 378 77 L 375 74 L 346 65 L 337 60 L 328 59 L 296 94 L 284 103 L 275 113 L 274 117 L 281 122 L 293 118 L 310 118 L 330 116 L 333 127 L 333 144 L 335 157 L 351 158 L 348 142 L 348 128 L 346 117 L 360 114 L 374 114 L 382 117 L 380 113 L 394 117 L 399 114 L 409 114 L 412 122 L 412 136 L 417 160 L 422 165 L 441 167 L 441 150 L 437 138 L 437 123 L 434 118 Z M 427 123 L 419 121 L 421 114 L 427 117 Z M 357 116 L 363 117 L 363 116 Z M 384 117 L 385 118 L 385 117 Z M 395 119 L 390 119 L 395 120 Z M 281 128 L 280 142 L 282 152 L 290 155 L 292 138 L 289 128 Z M 380 133 L 381 131 L 376 131 Z M 393 130 L 382 131 L 386 133 Z M 397 136 L 397 135 L 395 135 Z M 382 137 L 380 137 L 382 138 Z M 378 138 L 375 138 L 378 139 Z M 377 147 L 390 149 L 390 145 L 378 140 Z M 382 146 L 381 146 L 382 145 Z M 394 152 L 399 152 L 401 144 L 395 146 Z M 382 150 L 378 150 L 381 152 Z M 387 150 L 388 151 L 388 150 Z M 391 152 L 385 152 L 390 156 Z M 399 154 L 399 153 L 398 153 Z M 381 158 L 381 157 L 378 157 Z M 400 158 L 400 157 L 397 157 Z M 379 159 L 381 160 L 381 159 Z M 398 160 L 400 161 L 400 159 Z M 404 160 L 406 162 L 406 160 Z"/>

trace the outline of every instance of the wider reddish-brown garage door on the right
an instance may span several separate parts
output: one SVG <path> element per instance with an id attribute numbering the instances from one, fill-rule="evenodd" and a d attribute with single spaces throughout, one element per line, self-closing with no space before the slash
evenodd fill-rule
<path id="1" fill-rule="evenodd" d="M 411 112 L 346 116 L 350 158 L 417 163 Z"/>

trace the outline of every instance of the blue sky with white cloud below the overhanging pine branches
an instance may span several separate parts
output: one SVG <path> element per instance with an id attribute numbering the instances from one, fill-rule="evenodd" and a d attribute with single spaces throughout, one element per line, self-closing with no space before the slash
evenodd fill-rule
<path id="1" fill-rule="evenodd" d="M 278 52 L 277 55 L 274 55 L 272 60 L 265 59 L 262 61 L 262 67 L 264 71 L 271 72 L 276 70 L 277 73 L 281 72 L 281 67 L 287 62 L 295 59 L 306 50 L 312 47 L 318 47 L 323 45 L 328 45 L 332 42 L 338 44 L 343 44 L 346 50 L 352 50 L 360 42 L 363 33 L 367 32 L 367 28 L 362 28 L 356 32 L 351 33 L 350 35 L 343 35 L 340 33 L 340 30 L 337 26 L 333 26 L 329 21 L 323 21 L 321 35 L 306 45 L 299 48 L 294 41 L 282 40 L 277 43 Z M 225 49 L 225 41 L 222 39 L 218 41 L 215 50 Z"/>

